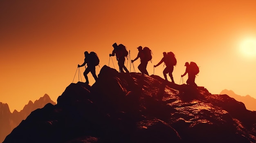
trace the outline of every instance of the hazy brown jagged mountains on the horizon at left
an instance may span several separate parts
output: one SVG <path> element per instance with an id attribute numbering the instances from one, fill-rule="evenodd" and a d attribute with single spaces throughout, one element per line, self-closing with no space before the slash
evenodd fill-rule
<path id="1" fill-rule="evenodd" d="M 22 120 L 25 120 L 32 111 L 43 108 L 47 103 L 56 104 L 50 99 L 49 95 L 45 94 L 43 97 L 34 101 L 34 103 L 30 100 L 20 112 L 17 110 L 11 112 L 7 103 L 0 102 L 0 143 L 2 143 L 5 137 L 10 134 Z"/>

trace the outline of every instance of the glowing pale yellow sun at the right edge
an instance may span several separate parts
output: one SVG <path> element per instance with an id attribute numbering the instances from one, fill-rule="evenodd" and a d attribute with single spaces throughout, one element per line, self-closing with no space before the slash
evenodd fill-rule
<path id="1" fill-rule="evenodd" d="M 240 51 L 246 57 L 256 57 L 256 38 L 243 40 L 240 44 Z"/>

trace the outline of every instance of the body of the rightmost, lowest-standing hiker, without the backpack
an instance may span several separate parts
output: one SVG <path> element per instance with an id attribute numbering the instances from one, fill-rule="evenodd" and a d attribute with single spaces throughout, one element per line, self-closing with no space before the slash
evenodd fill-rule
<path id="1" fill-rule="evenodd" d="M 181 77 L 184 77 L 188 73 L 188 79 L 186 83 L 192 86 L 197 86 L 195 84 L 195 75 L 197 75 L 197 73 L 193 72 L 193 67 L 189 64 L 189 62 L 186 62 L 184 66 L 186 66 L 186 71 L 183 75 L 181 75 Z"/>

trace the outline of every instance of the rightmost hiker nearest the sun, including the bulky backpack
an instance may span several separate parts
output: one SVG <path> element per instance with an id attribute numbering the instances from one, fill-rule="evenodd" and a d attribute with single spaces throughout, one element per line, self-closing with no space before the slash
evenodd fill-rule
<path id="1" fill-rule="evenodd" d="M 199 67 L 195 64 L 195 62 L 186 62 L 186 71 L 181 77 L 184 77 L 188 73 L 188 80 L 186 81 L 187 84 L 192 85 L 192 86 L 197 86 L 195 84 L 195 76 L 199 73 Z"/>

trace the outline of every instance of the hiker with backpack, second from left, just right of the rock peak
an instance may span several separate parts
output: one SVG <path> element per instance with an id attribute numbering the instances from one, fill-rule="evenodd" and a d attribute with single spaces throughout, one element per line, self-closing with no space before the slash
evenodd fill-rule
<path id="1" fill-rule="evenodd" d="M 124 70 L 126 73 L 129 73 L 129 70 L 124 65 L 125 57 L 128 55 L 126 47 L 123 44 L 117 45 L 117 43 L 114 43 L 112 46 L 114 50 L 112 51 L 112 54 L 109 54 L 109 56 L 111 57 L 116 55 L 120 73 L 124 73 Z"/>

